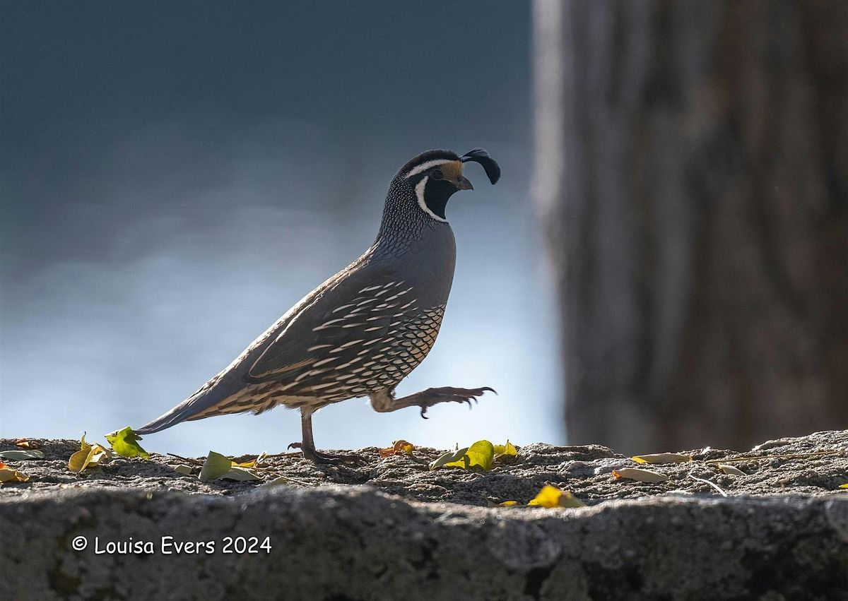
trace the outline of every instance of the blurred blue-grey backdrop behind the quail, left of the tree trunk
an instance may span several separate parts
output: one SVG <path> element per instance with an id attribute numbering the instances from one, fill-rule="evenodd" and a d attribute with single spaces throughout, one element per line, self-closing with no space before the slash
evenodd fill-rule
<path id="1" fill-rule="evenodd" d="M 3 2 L 0 57 L 0 436 L 93 439 L 170 409 L 371 243 L 401 164 L 483 146 L 504 177 L 471 166 L 449 203 L 448 312 L 399 393 L 499 396 L 430 420 L 338 403 L 316 443 L 564 442 L 527 2 Z M 145 446 L 299 439 L 276 409 Z"/>

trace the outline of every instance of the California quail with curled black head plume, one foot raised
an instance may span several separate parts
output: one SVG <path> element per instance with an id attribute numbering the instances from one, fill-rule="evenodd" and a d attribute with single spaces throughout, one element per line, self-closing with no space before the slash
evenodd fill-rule
<path id="1" fill-rule="evenodd" d="M 457 190 L 471 190 L 465 163 L 483 165 L 493 184 L 500 167 L 483 148 L 457 156 L 429 150 L 391 181 L 377 240 L 348 267 L 307 294 L 225 370 L 165 415 L 137 429 L 277 405 L 300 409 L 306 458 L 351 459 L 315 450 L 312 414 L 330 403 L 368 396 L 380 412 L 468 402 L 481 388 L 428 388 L 394 398 L 394 388 L 427 356 L 438 335 L 454 278 L 456 244 L 444 216 Z M 494 392 L 494 391 L 493 391 Z"/>

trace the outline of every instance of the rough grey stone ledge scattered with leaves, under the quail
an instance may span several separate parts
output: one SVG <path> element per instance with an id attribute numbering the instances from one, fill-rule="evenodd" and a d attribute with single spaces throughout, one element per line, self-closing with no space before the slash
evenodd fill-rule
<path id="1" fill-rule="evenodd" d="M 672 477 L 658 485 L 614 480 L 633 464 L 600 447 L 527 445 L 487 474 L 429 472 L 427 450 L 359 470 L 282 457 L 269 477 L 321 486 L 271 488 L 200 483 L 162 458 L 79 477 L 64 466 L 74 444 L 44 448 L 19 464 L 31 482 L 0 489 L 2 599 L 848 598 L 848 431 L 763 444 L 750 454 L 807 455 L 734 464 L 747 476 L 718 475 L 702 459 L 732 454 L 702 451 L 652 468 Z M 546 481 L 590 506 L 475 506 L 526 502 Z M 163 536 L 215 549 L 165 554 Z M 224 553 L 239 536 L 269 537 L 270 553 Z M 96 553 L 130 538 L 153 553 Z"/>

